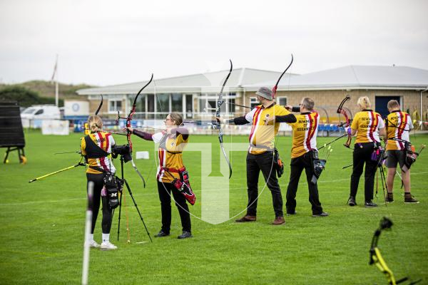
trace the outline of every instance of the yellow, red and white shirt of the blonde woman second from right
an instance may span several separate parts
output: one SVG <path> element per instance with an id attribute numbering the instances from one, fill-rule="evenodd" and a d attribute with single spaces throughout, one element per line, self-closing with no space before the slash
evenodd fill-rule
<path id="1" fill-rule="evenodd" d="M 355 114 L 351 128 L 357 130 L 355 143 L 380 142 L 379 129 L 385 128 L 385 124 L 379 113 L 372 110 L 362 110 Z"/>

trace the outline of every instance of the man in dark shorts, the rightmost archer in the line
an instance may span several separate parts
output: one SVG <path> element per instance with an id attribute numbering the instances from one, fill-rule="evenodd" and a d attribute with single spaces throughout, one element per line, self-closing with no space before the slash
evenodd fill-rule
<path id="1" fill-rule="evenodd" d="M 401 168 L 402 182 L 404 185 L 404 203 L 417 204 L 419 201 L 414 199 L 410 194 L 410 169 L 404 167 L 406 162 L 407 148 L 409 145 L 409 133 L 413 129 L 412 118 L 409 114 L 399 110 L 397 100 L 388 102 L 389 115 L 386 120 L 387 128 L 387 161 L 385 165 L 388 167 L 387 175 L 387 202 L 394 201 L 392 189 L 394 187 L 394 176 L 397 171 L 397 164 Z"/>

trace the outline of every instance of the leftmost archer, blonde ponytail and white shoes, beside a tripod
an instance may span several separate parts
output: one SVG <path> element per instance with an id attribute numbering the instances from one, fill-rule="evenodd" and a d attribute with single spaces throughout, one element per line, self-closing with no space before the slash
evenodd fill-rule
<path id="1" fill-rule="evenodd" d="M 88 118 L 88 127 L 91 133 L 81 140 L 81 153 L 86 157 L 89 165 L 86 170 L 86 178 L 88 182 L 93 182 L 93 213 L 89 245 L 90 247 L 99 247 L 101 250 L 117 249 L 109 241 L 113 209 L 108 205 L 108 196 L 103 180 L 104 172 L 110 172 L 113 175 L 116 172 L 111 161 L 111 149 L 116 143 L 110 133 L 102 131 L 103 121 L 97 115 L 91 115 Z M 93 230 L 100 209 L 100 199 L 103 204 L 101 246 L 93 239 Z"/>

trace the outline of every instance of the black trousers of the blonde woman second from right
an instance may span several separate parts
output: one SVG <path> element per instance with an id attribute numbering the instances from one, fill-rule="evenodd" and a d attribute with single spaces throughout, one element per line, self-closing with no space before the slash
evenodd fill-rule
<path id="1" fill-rule="evenodd" d="M 364 172 L 364 198 L 365 201 L 373 199 L 374 175 L 376 174 L 377 162 L 372 160 L 374 150 L 373 142 L 356 143 L 354 145 L 354 166 L 351 175 L 351 193 L 355 197 L 357 195 L 358 183 L 362 175 L 362 168 L 365 166 Z"/>

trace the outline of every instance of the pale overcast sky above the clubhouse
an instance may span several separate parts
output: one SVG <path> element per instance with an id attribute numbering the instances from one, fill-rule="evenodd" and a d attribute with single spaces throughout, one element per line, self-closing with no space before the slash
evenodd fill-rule
<path id="1" fill-rule="evenodd" d="M 0 83 L 106 86 L 234 67 L 428 69 L 425 0 L 0 0 Z"/>

